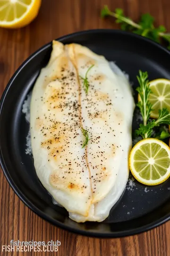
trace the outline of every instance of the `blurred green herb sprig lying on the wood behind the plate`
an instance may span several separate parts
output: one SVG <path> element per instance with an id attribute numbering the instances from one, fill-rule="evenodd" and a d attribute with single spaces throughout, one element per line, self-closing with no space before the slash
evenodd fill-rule
<path id="1" fill-rule="evenodd" d="M 123 9 L 116 8 L 114 12 L 110 11 L 107 5 L 101 11 L 101 17 L 112 16 L 116 18 L 116 23 L 120 23 L 122 30 L 131 31 L 143 37 L 148 37 L 153 41 L 160 43 L 163 38 L 168 42 L 168 49 L 170 49 L 170 33 L 165 33 L 164 26 L 154 27 L 154 18 L 149 13 L 141 16 L 138 23 L 131 18 L 125 17 Z"/>

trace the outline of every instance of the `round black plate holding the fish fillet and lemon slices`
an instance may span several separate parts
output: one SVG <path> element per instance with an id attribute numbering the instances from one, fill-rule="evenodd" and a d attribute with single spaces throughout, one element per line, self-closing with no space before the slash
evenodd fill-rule
<path id="1" fill-rule="evenodd" d="M 162 46 L 119 30 L 91 30 L 58 39 L 78 43 L 104 55 L 129 74 L 134 88 L 138 70 L 147 71 L 149 79 L 170 79 L 170 52 Z M 95 237 L 122 237 L 146 231 L 170 219 L 170 179 L 154 187 L 129 181 L 127 188 L 101 222 L 76 223 L 68 212 L 53 204 L 51 196 L 38 180 L 33 157 L 26 155 L 29 125 L 22 113 L 26 95 L 43 66 L 48 63 L 51 43 L 31 55 L 9 81 L 0 102 L 0 162 L 3 172 L 19 198 L 35 213 L 52 224 Z M 133 128 L 137 125 L 134 119 Z M 130 183 L 130 185 L 129 185 Z M 132 185 L 132 186 L 131 186 Z"/>

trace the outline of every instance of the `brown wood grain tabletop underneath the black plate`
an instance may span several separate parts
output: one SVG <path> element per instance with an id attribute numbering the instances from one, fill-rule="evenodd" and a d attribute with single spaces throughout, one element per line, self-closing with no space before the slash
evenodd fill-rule
<path id="1" fill-rule="evenodd" d="M 104 4 L 123 8 L 138 19 L 151 13 L 156 24 L 170 31 L 170 0 L 42 0 L 38 17 L 27 27 L 0 28 L 0 94 L 20 64 L 36 49 L 54 38 L 92 28 L 119 28 L 112 18 L 102 20 Z M 15 252 L 0 256 L 170 256 L 170 222 L 140 235 L 118 239 L 77 236 L 42 220 L 29 210 L 9 187 L 0 172 L 0 250 L 10 240 L 59 240 L 58 253 Z"/>

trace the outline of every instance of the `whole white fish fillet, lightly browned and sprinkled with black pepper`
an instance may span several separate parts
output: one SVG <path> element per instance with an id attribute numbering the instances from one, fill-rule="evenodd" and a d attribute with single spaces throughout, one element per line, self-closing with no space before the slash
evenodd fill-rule
<path id="1" fill-rule="evenodd" d="M 40 181 L 71 219 L 102 221 L 121 196 L 133 110 L 127 79 L 103 56 L 53 41 L 32 94 L 31 143 Z M 90 137 L 83 148 L 82 128 Z"/>

